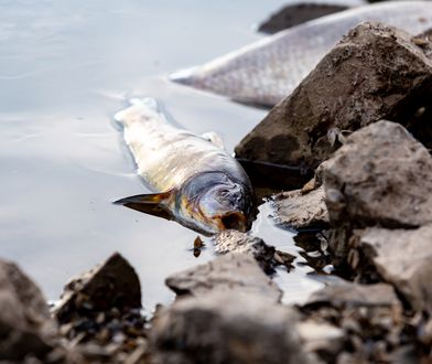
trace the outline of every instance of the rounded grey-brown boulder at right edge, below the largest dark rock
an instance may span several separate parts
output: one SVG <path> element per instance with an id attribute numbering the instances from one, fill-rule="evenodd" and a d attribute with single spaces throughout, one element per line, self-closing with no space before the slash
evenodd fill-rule
<path id="1" fill-rule="evenodd" d="M 432 222 L 432 158 L 395 122 L 347 138 L 324 170 L 333 226 L 418 227 Z"/>

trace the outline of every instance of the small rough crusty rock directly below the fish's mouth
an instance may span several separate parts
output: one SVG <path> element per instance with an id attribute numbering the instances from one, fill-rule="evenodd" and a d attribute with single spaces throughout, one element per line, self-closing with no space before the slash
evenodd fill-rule
<path id="1" fill-rule="evenodd" d="M 261 238 L 237 231 L 224 231 L 215 236 L 215 251 L 218 254 L 250 254 L 259 263 L 266 274 L 273 274 L 274 268 L 283 265 L 291 268 L 294 256 L 279 251 L 267 245 Z"/>

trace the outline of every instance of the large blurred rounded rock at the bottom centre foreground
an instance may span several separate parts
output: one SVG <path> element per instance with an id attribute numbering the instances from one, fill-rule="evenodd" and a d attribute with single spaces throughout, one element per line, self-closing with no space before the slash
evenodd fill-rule
<path id="1" fill-rule="evenodd" d="M 292 309 L 255 295 L 185 298 L 162 310 L 154 322 L 154 363 L 311 363 L 296 321 Z"/>

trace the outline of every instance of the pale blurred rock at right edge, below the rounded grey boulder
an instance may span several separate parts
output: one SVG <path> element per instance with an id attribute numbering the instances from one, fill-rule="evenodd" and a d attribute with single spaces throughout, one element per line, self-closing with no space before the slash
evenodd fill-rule
<path id="1" fill-rule="evenodd" d="M 417 229 L 367 228 L 359 249 L 415 310 L 432 314 L 432 225 Z"/>

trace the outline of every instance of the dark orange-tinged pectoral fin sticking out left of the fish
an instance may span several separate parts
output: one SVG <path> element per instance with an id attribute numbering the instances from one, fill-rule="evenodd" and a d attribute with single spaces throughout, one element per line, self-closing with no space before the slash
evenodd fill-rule
<path id="1" fill-rule="evenodd" d="M 173 220 L 174 216 L 170 208 L 171 196 L 171 191 L 154 194 L 138 194 L 115 201 L 114 203 L 145 214 Z"/>

